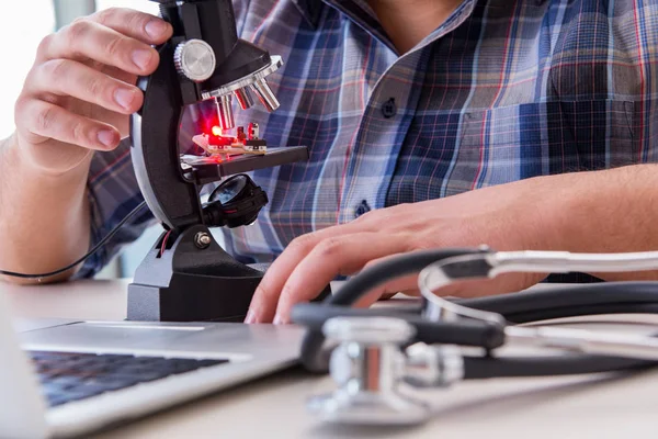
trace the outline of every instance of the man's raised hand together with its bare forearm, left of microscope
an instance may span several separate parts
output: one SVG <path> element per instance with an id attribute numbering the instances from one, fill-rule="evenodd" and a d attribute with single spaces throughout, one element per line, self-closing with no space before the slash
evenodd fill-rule
<path id="1" fill-rule="evenodd" d="M 157 16 L 107 9 L 43 40 L 15 103 L 16 130 L 0 142 L 0 234 L 11 236 L 0 246 L 1 268 L 47 272 L 89 249 L 92 153 L 127 136 L 143 103 L 136 78 L 155 71 L 151 44 L 171 33 Z"/>

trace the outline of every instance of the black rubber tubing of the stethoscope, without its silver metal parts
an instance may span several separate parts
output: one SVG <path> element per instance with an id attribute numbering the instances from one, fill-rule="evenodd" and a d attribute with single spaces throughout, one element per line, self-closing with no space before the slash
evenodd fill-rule
<path id="1" fill-rule="evenodd" d="M 329 350 L 324 348 L 324 323 L 338 316 L 387 316 L 404 318 L 416 328 L 412 342 L 445 344 L 481 348 L 480 356 L 465 356 L 465 379 L 495 376 L 544 376 L 637 370 L 658 362 L 634 358 L 565 352 L 559 356 L 497 357 L 504 345 L 504 324 L 461 319 L 432 322 L 421 316 L 421 306 L 406 309 L 350 308 L 372 289 L 392 279 L 420 271 L 429 263 L 454 256 L 484 250 L 441 249 L 392 258 L 348 281 L 320 304 L 300 304 L 293 309 L 293 322 L 308 327 L 302 342 L 300 361 L 306 369 L 327 372 Z M 510 324 L 599 314 L 658 313 L 658 282 L 602 282 L 547 288 L 468 300 L 463 306 L 495 312 Z"/>

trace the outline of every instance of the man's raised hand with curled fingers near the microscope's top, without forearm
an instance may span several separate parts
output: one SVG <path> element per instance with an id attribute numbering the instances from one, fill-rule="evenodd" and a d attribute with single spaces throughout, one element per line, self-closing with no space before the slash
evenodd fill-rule
<path id="1" fill-rule="evenodd" d="M 92 150 L 115 148 L 128 134 L 128 115 L 141 106 L 137 76 L 158 66 L 150 45 L 171 32 L 157 16 L 107 9 L 46 36 L 15 104 L 21 154 L 57 175 Z"/>

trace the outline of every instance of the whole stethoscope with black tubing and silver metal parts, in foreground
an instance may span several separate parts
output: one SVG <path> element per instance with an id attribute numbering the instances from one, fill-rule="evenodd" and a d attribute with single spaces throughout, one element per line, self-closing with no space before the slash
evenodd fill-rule
<path id="1" fill-rule="evenodd" d="M 621 272 L 658 268 L 658 252 L 570 254 L 441 249 L 385 260 L 351 278 L 322 303 L 299 304 L 292 319 L 307 327 L 300 361 L 327 372 L 337 389 L 309 401 L 320 419 L 408 425 L 430 417 L 408 389 L 462 380 L 629 371 L 658 365 L 658 339 L 533 322 L 597 314 L 658 313 L 658 282 L 602 282 L 472 300 L 438 290 L 508 272 Z M 420 306 L 351 308 L 375 286 L 418 274 Z M 330 346 L 326 346 L 326 341 Z M 497 357 L 506 346 L 563 349 L 563 354 Z"/>

